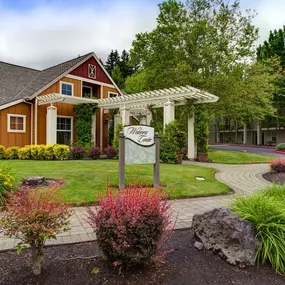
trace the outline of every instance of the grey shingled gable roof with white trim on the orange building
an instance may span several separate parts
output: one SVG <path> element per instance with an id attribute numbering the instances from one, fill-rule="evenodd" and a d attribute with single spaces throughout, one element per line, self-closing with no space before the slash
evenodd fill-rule
<path id="1" fill-rule="evenodd" d="M 57 64 L 50 68 L 44 69 L 42 71 L 30 69 L 26 67 L 19 67 L 23 69 L 22 72 L 14 71 L 14 75 L 12 72 L 9 72 L 5 75 L 6 84 L 3 84 L 0 79 L 0 109 L 1 105 L 16 102 L 24 99 L 32 99 L 36 97 L 41 91 L 48 88 L 50 85 L 54 84 L 56 81 L 60 80 L 60 78 L 64 77 L 66 74 L 71 72 L 73 69 L 81 65 L 83 62 L 88 60 L 90 57 L 94 57 L 103 71 L 106 73 L 108 78 L 111 80 L 113 85 L 118 89 L 121 93 L 120 89 L 110 77 L 106 69 L 100 60 L 96 57 L 96 55 L 91 52 L 85 54 L 83 56 L 79 56 L 77 58 L 65 61 L 63 63 Z M 9 64 L 8 64 L 9 65 Z M 12 65 L 11 65 L 12 66 Z M 29 72 L 27 71 L 29 70 Z M 3 69 L 0 65 L 0 76 L 7 71 L 7 69 Z M 12 76 L 11 76 L 12 74 Z M 19 77 L 23 76 L 23 80 L 19 80 Z M 20 77 L 21 78 L 21 77 Z M 4 82 L 5 83 L 5 82 Z M 5 85 L 9 86 L 9 88 L 5 88 Z M 15 90 L 13 90 L 13 88 Z M 2 90 L 3 89 L 3 90 Z"/>

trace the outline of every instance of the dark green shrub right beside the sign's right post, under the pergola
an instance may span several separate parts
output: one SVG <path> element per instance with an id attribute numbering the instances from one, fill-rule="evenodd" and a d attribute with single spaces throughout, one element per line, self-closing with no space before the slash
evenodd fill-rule
<path id="1" fill-rule="evenodd" d="M 166 133 L 160 137 L 160 160 L 163 163 L 177 162 L 177 142 L 173 136 Z"/>

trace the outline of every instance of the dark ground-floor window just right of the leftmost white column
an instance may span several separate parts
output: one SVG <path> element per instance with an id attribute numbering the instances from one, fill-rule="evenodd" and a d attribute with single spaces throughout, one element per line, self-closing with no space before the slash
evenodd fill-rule
<path id="1" fill-rule="evenodd" d="M 70 145 L 72 143 L 73 118 L 57 117 L 57 143 Z"/>

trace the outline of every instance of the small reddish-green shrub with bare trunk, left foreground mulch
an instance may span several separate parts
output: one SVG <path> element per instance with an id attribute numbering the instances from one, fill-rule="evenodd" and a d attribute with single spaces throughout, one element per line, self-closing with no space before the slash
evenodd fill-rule
<path id="1" fill-rule="evenodd" d="M 0 225 L 5 235 L 21 240 L 17 245 L 18 252 L 30 245 L 32 271 L 39 275 L 46 240 L 68 230 L 66 226 L 70 215 L 68 206 L 62 203 L 56 189 L 18 191 L 10 195 Z"/>

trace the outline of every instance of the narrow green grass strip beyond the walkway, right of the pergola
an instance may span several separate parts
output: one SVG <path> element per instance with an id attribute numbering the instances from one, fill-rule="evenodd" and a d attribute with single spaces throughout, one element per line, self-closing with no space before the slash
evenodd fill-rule
<path id="1" fill-rule="evenodd" d="M 226 164 L 252 164 L 267 163 L 276 159 L 274 156 L 266 156 L 255 153 L 210 149 L 209 160 L 216 163 Z"/>

